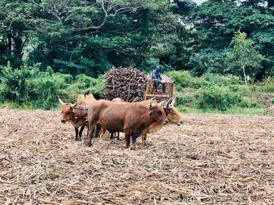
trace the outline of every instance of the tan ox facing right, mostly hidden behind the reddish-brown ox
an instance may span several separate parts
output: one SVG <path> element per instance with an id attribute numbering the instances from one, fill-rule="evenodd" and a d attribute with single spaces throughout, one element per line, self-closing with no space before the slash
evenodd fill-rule
<path id="1" fill-rule="evenodd" d="M 168 100 L 168 102 L 161 102 L 159 103 L 160 106 L 162 106 L 164 108 L 164 111 L 165 111 L 165 114 L 168 118 L 168 124 L 177 124 L 177 126 L 180 126 L 181 124 L 183 124 L 183 121 L 180 117 L 180 114 L 178 112 L 178 110 L 174 107 L 174 103 L 175 101 L 177 100 L 177 96 L 173 99 L 172 101 L 172 98 L 170 98 Z M 149 103 L 150 100 L 147 100 L 147 101 L 141 101 L 141 102 L 138 102 L 138 103 L 141 103 L 143 105 L 147 105 Z M 172 102 L 171 102 L 172 101 Z M 157 103 L 155 100 L 153 101 L 153 103 Z M 148 128 L 148 131 L 147 133 L 151 134 L 151 133 L 154 133 L 154 132 L 158 132 L 159 130 L 161 130 L 163 127 L 162 123 L 159 123 L 159 122 L 152 122 L 152 124 L 149 126 Z M 101 132 L 100 132 L 100 138 L 103 138 L 104 134 L 106 133 L 106 136 L 108 139 L 112 139 L 110 136 L 110 133 L 105 130 L 104 128 L 101 129 Z M 147 133 L 143 134 L 142 135 L 142 145 L 143 146 L 146 146 L 146 137 L 147 137 Z M 117 138 L 117 140 L 119 140 L 120 138 Z"/>

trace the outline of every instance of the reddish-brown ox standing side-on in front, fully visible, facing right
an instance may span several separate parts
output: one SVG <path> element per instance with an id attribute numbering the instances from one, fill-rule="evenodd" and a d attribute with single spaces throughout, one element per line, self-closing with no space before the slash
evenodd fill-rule
<path id="1" fill-rule="evenodd" d="M 154 98 L 155 99 L 155 98 Z M 99 100 L 92 103 L 88 108 L 88 146 L 91 146 L 91 138 L 95 127 L 103 127 L 110 132 L 124 132 L 126 149 L 132 137 L 132 149 L 135 149 L 136 138 L 145 134 L 150 124 L 154 121 L 166 125 L 168 119 L 164 114 L 164 109 L 152 103 L 148 106 L 141 103 L 113 103 L 106 100 Z M 96 128 L 95 136 L 98 136 Z"/>

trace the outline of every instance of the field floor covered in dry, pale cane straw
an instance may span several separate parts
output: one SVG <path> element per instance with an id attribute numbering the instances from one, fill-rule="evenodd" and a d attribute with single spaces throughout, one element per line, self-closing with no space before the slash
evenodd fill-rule
<path id="1" fill-rule="evenodd" d="M 133 151 L 59 115 L 0 110 L 0 204 L 274 204 L 273 116 L 182 113 Z"/>

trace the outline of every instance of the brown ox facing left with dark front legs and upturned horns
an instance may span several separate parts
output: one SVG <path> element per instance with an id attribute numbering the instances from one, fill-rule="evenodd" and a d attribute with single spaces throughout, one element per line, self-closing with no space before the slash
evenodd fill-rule
<path id="1" fill-rule="evenodd" d="M 75 104 L 70 104 L 70 103 L 64 103 L 60 97 L 58 96 L 58 101 L 61 103 L 63 106 L 61 114 L 63 115 L 61 122 L 66 123 L 70 122 L 75 129 L 75 140 L 78 140 L 78 128 L 81 126 L 81 129 L 79 131 L 79 140 L 81 139 L 82 132 L 85 128 L 86 125 L 86 118 L 87 118 L 87 112 L 84 110 L 78 110 L 78 109 L 73 109 L 72 107 L 75 106 Z M 84 106 L 84 103 L 86 104 L 91 104 L 94 102 L 94 100 L 78 100 L 78 104 Z"/>

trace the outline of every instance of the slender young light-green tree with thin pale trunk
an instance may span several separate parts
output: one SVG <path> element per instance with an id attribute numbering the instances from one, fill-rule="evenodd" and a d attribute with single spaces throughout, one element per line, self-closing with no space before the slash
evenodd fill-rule
<path id="1" fill-rule="evenodd" d="M 246 76 L 254 77 L 264 57 L 253 48 L 253 43 L 246 39 L 244 32 L 237 31 L 230 45 L 232 44 L 233 49 L 225 58 L 227 68 L 224 71 L 238 77 L 243 76 L 247 84 Z M 243 75 L 240 74 L 239 69 L 243 71 Z"/>

